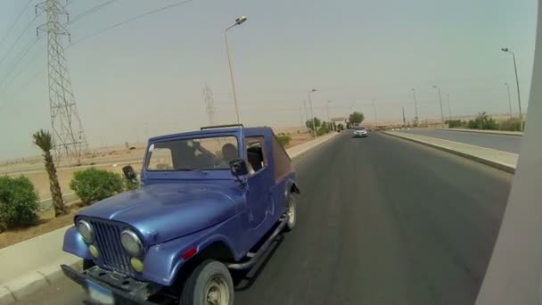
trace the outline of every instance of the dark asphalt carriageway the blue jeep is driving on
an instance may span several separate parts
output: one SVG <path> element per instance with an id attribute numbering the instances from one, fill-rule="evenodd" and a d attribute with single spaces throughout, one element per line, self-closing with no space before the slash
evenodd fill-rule
<path id="1" fill-rule="evenodd" d="M 236 276 L 235 304 L 473 304 L 513 176 L 391 136 L 295 161 L 297 227 Z M 21 304 L 80 304 L 62 279 Z"/>

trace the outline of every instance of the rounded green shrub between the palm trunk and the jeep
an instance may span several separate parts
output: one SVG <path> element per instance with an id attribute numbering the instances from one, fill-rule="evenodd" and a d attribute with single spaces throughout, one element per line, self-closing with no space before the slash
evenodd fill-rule
<path id="1" fill-rule="evenodd" d="M 123 178 L 119 174 L 104 169 L 86 169 L 73 173 L 70 189 L 78 195 L 84 205 L 101 201 L 124 189 Z"/>

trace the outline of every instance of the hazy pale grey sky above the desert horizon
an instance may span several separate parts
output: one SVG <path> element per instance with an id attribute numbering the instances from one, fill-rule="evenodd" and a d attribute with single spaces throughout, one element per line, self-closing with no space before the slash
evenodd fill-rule
<path id="1" fill-rule="evenodd" d="M 75 20 L 106 2 L 70 0 L 67 9 Z M 75 42 L 177 2 L 117 0 L 68 29 Z M 0 39 L 27 3 L 0 0 Z M 45 37 L 13 66 L 45 21 L 40 15 L 12 47 L 36 3 L 0 45 L 0 60 L 6 57 L 0 64 L 0 159 L 37 154 L 30 135 L 50 127 Z M 412 120 L 412 87 L 420 118 L 439 118 L 431 85 L 441 87 L 445 110 L 450 95 L 452 115 L 505 113 L 505 82 L 517 112 L 512 58 L 500 47 L 516 54 L 526 108 L 536 12 L 536 0 L 193 0 L 90 37 L 68 47 L 66 56 L 91 146 L 207 125 L 205 83 L 214 92 L 217 123 L 234 122 L 224 29 L 243 14 L 249 20 L 228 37 L 245 124 L 299 126 L 300 103 L 311 87 L 318 90 L 315 115 L 324 118 L 331 100 L 333 116 L 354 109 L 374 120 L 375 97 L 379 120 L 398 120 L 403 106 Z"/>

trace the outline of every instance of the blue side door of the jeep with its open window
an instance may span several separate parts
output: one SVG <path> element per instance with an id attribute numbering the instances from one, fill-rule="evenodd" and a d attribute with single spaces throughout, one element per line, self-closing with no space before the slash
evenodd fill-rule
<path id="1" fill-rule="evenodd" d="M 268 214 L 274 213 L 271 196 L 274 178 L 272 170 L 268 167 L 264 137 L 245 136 L 243 142 L 247 166 L 249 167 L 247 181 L 249 188 L 246 196 L 250 209 L 250 226 L 257 228 L 264 223 Z"/>

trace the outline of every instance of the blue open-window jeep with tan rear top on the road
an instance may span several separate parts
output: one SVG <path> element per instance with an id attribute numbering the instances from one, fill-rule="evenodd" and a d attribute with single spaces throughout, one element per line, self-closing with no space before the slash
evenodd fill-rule
<path id="1" fill-rule="evenodd" d="M 153 137 L 141 185 L 81 211 L 64 236 L 84 270 L 62 270 L 92 301 L 231 305 L 230 270 L 252 267 L 296 223 L 300 191 L 271 128 Z"/>

